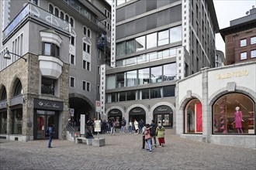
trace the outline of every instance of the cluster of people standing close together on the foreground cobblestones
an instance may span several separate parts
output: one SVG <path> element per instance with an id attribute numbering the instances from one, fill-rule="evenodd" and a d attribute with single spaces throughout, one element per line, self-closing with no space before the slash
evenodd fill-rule
<path id="1" fill-rule="evenodd" d="M 159 147 L 164 147 L 164 127 L 161 125 L 159 121 L 158 124 L 154 124 L 154 121 L 151 121 L 151 124 L 145 124 L 142 128 L 142 149 L 145 148 L 145 144 L 147 143 L 147 150 L 152 152 L 153 140 L 154 139 L 154 147 L 157 148 L 157 139 L 159 143 Z M 157 139 L 156 139 L 157 138 Z"/>

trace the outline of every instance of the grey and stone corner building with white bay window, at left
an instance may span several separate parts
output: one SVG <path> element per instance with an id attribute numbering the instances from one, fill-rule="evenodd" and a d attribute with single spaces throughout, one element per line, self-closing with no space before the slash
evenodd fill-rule
<path id="1" fill-rule="evenodd" d="M 54 138 L 64 138 L 69 118 L 78 123 L 80 114 L 95 117 L 110 17 L 106 1 L 1 2 L 3 138 L 41 139 L 50 124 Z M 5 59 L 6 52 L 15 55 Z"/>

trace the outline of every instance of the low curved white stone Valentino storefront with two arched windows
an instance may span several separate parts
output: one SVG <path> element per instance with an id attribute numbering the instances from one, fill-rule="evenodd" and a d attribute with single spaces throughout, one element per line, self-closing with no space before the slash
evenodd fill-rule
<path id="1" fill-rule="evenodd" d="M 255 77 L 256 62 L 251 61 L 204 68 L 179 80 L 176 134 L 217 145 L 256 148 Z"/>

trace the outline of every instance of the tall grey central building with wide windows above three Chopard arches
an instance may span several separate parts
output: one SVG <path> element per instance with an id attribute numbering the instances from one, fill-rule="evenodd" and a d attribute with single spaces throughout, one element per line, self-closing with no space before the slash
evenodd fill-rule
<path id="1" fill-rule="evenodd" d="M 176 80 L 215 66 L 218 30 L 213 1 L 113 1 L 102 115 L 173 127 Z"/>

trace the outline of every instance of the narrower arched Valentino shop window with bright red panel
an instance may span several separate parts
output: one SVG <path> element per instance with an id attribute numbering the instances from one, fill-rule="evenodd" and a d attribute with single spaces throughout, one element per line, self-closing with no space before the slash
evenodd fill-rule
<path id="1" fill-rule="evenodd" d="M 200 100 L 193 99 L 185 107 L 185 133 L 202 133 L 202 104 Z"/>

